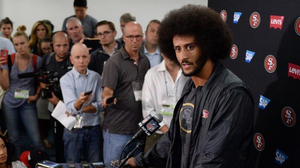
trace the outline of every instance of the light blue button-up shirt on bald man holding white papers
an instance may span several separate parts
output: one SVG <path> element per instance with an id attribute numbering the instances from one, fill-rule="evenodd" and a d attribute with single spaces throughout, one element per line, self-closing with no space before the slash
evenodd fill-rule
<path id="1" fill-rule="evenodd" d="M 66 109 L 71 114 L 82 116 L 82 126 L 95 126 L 100 124 L 99 112 L 102 110 L 101 98 L 101 77 L 95 71 L 87 69 L 85 75 L 80 74 L 74 67 L 61 77 L 60 85 Z M 96 107 L 95 113 L 82 113 L 77 110 L 74 103 L 77 101 L 81 92 L 93 91 L 93 97 L 89 103 L 83 106 L 93 105 Z"/>

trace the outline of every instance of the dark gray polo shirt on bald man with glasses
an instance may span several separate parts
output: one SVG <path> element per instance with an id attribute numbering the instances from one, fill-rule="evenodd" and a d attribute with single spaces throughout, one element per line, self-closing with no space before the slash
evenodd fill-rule
<path id="1" fill-rule="evenodd" d="M 132 81 L 144 80 L 150 69 L 148 58 L 139 53 L 138 66 L 122 47 L 105 63 L 102 87 L 114 90 L 117 103 L 105 109 L 104 130 L 113 134 L 135 134 L 140 130 L 138 123 L 143 119 L 141 101 L 135 101 Z"/>

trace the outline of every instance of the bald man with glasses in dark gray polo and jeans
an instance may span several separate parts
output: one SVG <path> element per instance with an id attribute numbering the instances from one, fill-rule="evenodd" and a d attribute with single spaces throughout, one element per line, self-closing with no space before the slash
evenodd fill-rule
<path id="1" fill-rule="evenodd" d="M 111 56 L 104 65 L 102 106 L 106 108 L 103 123 L 105 163 L 119 160 L 124 145 L 140 130 L 138 123 L 143 119 L 141 90 L 144 76 L 150 68 L 148 58 L 139 52 L 143 35 L 140 24 L 128 22 L 123 34 L 124 48 Z M 107 104 L 106 100 L 113 95 L 116 95 L 116 99 Z M 136 142 L 126 147 L 122 159 L 135 146 Z"/>

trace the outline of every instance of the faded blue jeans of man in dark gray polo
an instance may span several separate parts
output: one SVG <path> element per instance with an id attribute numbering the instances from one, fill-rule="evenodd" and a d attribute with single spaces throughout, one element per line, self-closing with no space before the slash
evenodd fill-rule
<path id="1" fill-rule="evenodd" d="M 128 140 L 132 138 L 132 135 L 123 135 L 123 134 L 111 134 L 103 130 L 103 158 L 105 163 L 110 163 L 111 160 L 119 160 L 121 151 Z M 138 141 L 135 140 L 132 144 L 126 147 L 122 154 L 122 159 L 124 159 L 129 152 L 131 152 L 135 147 Z M 144 150 L 143 147 L 139 148 L 132 157 L 136 157 L 140 152 Z"/>

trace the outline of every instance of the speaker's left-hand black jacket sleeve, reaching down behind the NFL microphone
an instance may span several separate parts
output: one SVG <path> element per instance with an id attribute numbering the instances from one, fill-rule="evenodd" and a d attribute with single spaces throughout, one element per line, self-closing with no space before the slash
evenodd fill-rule
<path id="1" fill-rule="evenodd" d="M 172 123 L 172 122 L 171 122 Z M 150 167 L 164 165 L 168 159 L 169 148 L 171 145 L 172 125 L 160 140 L 146 153 L 142 152 L 134 159 L 137 166 Z"/>

